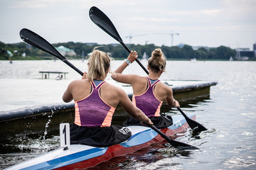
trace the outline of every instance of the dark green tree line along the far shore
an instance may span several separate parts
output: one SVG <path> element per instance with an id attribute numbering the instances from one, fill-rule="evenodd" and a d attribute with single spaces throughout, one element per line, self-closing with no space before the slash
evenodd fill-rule
<path id="1" fill-rule="evenodd" d="M 126 58 L 129 53 L 127 50 L 122 47 L 120 44 L 109 44 L 109 45 L 98 45 L 98 44 L 89 44 L 89 43 L 82 43 L 82 42 L 62 42 L 62 43 L 55 43 L 53 47 L 58 47 L 63 45 L 64 47 L 68 47 L 72 49 L 77 54 L 75 57 L 68 58 L 75 58 L 81 59 L 85 57 L 88 53 L 92 52 L 95 47 L 99 47 L 99 50 L 110 52 L 111 56 L 115 59 L 123 59 Z M 156 46 L 154 44 L 148 45 L 127 45 L 129 49 L 136 50 L 138 52 L 139 58 L 142 58 L 144 52 L 149 57 L 151 56 L 151 52 L 156 48 L 161 48 L 164 52 L 164 55 L 169 60 L 191 60 L 196 58 L 197 60 L 229 60 L 229 58 L 235 57 L 235 50 L 231 49 L 230 47 L 225 47 L 221 45 L 220 47 L 210 47 L 206 49 L 205 47 L 200 47 L 198 50 L 193 50 L 191 45 L 183 45 L 183 47 L 178 46 Z M 29 58 L 38 59 L 38 60 L 52 60 L 53 57 L 48 55 L 46 52 L 42 50 L 38 50 L 38 48 L 28 45 L 26 42 L 18 42 L 14 44 L 5 44 L 4 42 L 0 41 L 1 47 L 1 54 L 0 60 L 10 60 L 10 56 L 7 51 L 13 53 L 11 57 L 12 60 L 29 60 Z M 21 54 L 25 53 L 26 57 L 21 57 Z"/>

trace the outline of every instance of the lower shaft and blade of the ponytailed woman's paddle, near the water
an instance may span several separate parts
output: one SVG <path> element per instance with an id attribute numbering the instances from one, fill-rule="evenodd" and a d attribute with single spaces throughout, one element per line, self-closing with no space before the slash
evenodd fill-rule
<path id="1" fill-rule="evenodd" d="M 146 124 L 148 125 L 148 124 Z M 192 145 L 188 145 L 183 142 L 178 142 L 176 140 L 171 140 L 170 137 L 165 135 L 163 132 L 161 132 L 159 129 L 157 129 L 154 125 L 148 125 L 152 130 L 156 131 L 161 137 L 164 137 L 165 140 L 167 140 L 173 147 L 177 147 L 178 149 L 199 149 L 198 147 L 194 147 Z"/>

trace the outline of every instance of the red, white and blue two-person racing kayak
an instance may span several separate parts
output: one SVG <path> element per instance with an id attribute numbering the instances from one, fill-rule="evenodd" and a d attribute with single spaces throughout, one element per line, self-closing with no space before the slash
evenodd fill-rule
<path id="1" fill-rule="evenodd" d="M 194 113 L 187 114 L 196 120 Z M 167 136 L 176 135 L 188 128 L 183 115 L 173 115 L 173 125 L 161 129 Z M 7 169 L 86 169 L 105 162 L 119 155 L 136 152 L 155 142 L 164 140 L 157 132 L 144 126 L 128 126 L 132 137 L 110 147 L 91 147 L 87 145 L 70 145 L 68 149 L 58 148 L 46 154 L 28 159 Z"/>

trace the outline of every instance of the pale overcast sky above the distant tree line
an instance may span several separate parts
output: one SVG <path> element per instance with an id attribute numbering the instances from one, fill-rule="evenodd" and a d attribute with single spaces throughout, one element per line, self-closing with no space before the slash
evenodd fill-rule
<path id="1" fill-rule="evenodd" d="M 21 42 L 28 28 L 50 43 L 119 43 L 92 23 L 92 6 L 126 44 L 252 50 L 256 43 L 256 0 L 0 0 L 0 41 Z"/>

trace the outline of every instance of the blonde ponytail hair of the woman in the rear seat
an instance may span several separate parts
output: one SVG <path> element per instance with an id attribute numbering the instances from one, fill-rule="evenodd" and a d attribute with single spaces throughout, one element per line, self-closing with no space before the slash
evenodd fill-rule
<path id="1" fill-rule="evenodd" d="M 92 55 L 88 60 L 87 79 L 89 81 L 96 78 L 105 79 L 107 77 L 107 70 L 110 69 L 111 57 L 107 55 L 107 52 L 96 49 L 97 47 L 93 49 Z"/>

